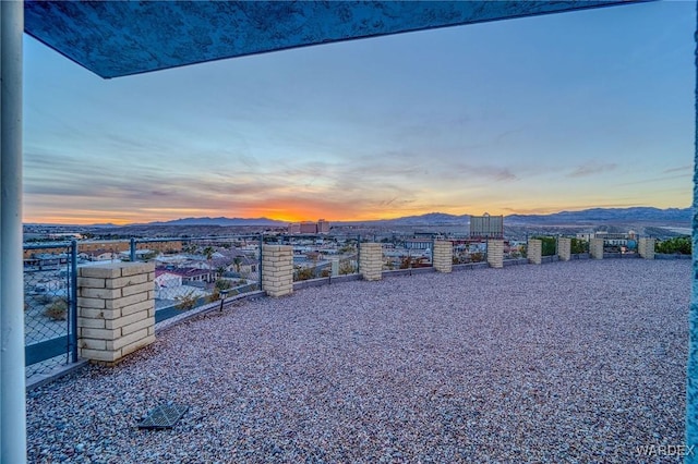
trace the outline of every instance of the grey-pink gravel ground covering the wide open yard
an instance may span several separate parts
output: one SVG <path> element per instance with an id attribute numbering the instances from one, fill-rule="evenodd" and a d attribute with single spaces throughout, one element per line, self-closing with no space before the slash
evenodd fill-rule
<path id="1" fill-rule="evenodd" d="M 28 393 L 31 462 L 678 462 L 690 261 L 305 289 Z M 140 430 L 163 403 L 190 408 Z"/>

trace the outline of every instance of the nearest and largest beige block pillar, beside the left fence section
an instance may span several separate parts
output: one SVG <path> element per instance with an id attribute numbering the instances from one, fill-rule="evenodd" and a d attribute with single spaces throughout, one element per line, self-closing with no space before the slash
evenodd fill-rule
<path id="1" fill-rule="evenodd" d="M 155 265 L 111 262 L 77 269 L 77 349 L 115 364 L 155 341 Z"/>

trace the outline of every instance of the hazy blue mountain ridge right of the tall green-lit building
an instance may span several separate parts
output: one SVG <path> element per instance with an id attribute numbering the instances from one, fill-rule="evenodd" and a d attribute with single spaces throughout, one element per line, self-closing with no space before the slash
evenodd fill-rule
<path id="1" fill-rule="evenodd" d="M 580 224 L 593 222 L 658 222 L 689 224 L 691 217 L 693 211 L 690 208 L 592 208 L 582 211 L 561 211 L 552 215 L 510 215 L 504 218 L 504 223 Z"/>

